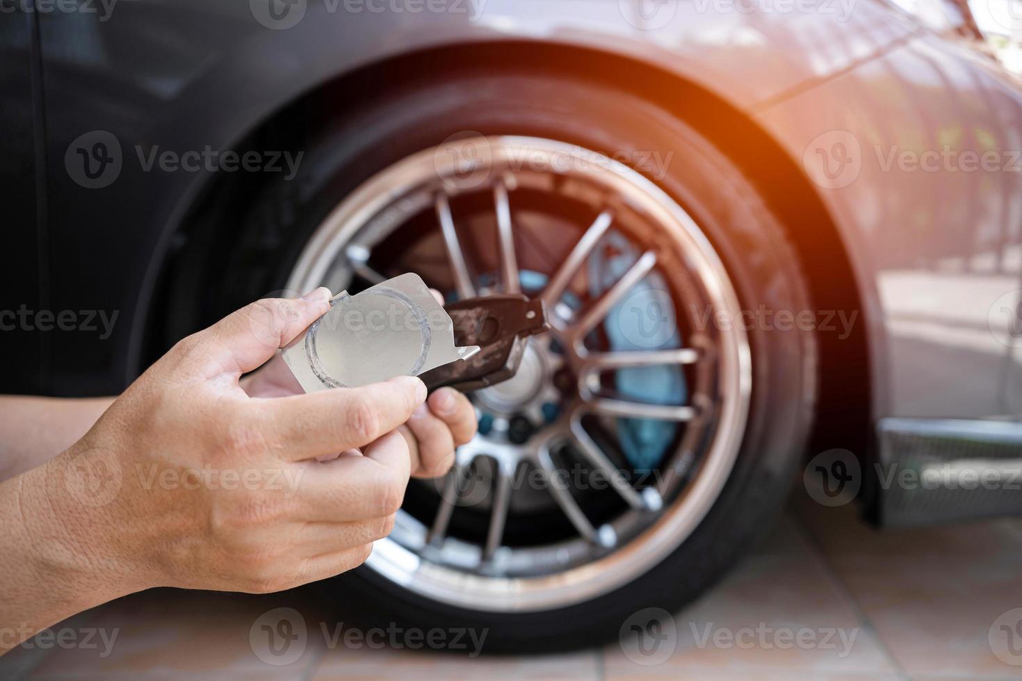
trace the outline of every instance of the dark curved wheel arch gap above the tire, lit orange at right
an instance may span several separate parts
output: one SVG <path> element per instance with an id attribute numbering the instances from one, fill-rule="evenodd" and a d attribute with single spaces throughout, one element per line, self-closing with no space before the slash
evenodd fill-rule
<path id="1" fill-rule="evenodd" d="M 423 68 L 423 64 L 428 67 Z M 788 231 L 808 279 L 814 308 L 858 310 L 860 315 L 869 309 L 864 304 L 866 289 L 855 276 L 838 225 L 781 144 L 722 94 L 677 72 L 620 53 L 536 42 L 517 46 L 469 43 L 405 53 L 362 65 L 285 102 L 241 136 L 237 148 L 258 144 L 268 137 L 279 140 L 279 131 L 308 131 L 301 137 L 288 135 L 283 140 L 299 145 L 301 139 L 314 135 L 321 125 L 343 115 L 353 99 L 382 94 L 385 89 L 403 85 L 443 80 L 458 71 L 494 68 L 563 74 L 631 92 L 675 113 L 705 135 L 762 193 Z M 226 187 L 225 192 L 225 184 L 251 181 L 252 178 L 241 174 L 204 179 L 201 188 L 193 193 L 194 200 L 181 212 L 183 217 L 173 229 L 175 236 L 168 241 L 169 248 L 160 254 L 161 274 L 153 291 L 155 300 L 166 299 L 168 278 L 162 273 L 180 250 L 174 244 L 184 243 L 186 238 L 200 232 L 210 222 L 202 216 L 208 214 L 214 203 L 223 200 L 222 196 L 237 195 L 236 186 Z M 158 343 L 154 344 L 155 322 L 149 319 L 145 325 L 143 357 L 146 359 L 158 356 L 160 351 Z M 868 450 L 873 374 L 866 328 L 865 322 L 853 324 L 850 335 L 844 339 L 818 332 L 819 397 L 810 450 L 832 446 L 855 452 Z"/>

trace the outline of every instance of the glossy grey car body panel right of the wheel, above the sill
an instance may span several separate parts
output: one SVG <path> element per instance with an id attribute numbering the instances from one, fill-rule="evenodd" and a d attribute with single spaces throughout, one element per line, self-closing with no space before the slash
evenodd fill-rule
<path id="1" fill-rule="evenodd" d="M 820 193 L 868 301 L 877 417 L 1022 414 L 1022 353 L 988 320 L 1022 288 L 1020 109 L 991 62 L 923 36 L 757 115 L 810 176 L 832 163 Z M 925 169 L 944 147 L 925 162 L 946 172 Z M 990 150 L 1004 169 L 968 169 Z"/>

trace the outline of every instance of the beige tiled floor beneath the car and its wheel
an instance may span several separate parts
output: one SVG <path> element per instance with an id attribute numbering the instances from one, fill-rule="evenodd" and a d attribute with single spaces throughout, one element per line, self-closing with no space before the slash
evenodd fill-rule
<path id="1" fill-rule="evenodd" d="M 304 649 L 265 664 L 249 632 L 294 607 Z M 244 596 L 157 590 L 58 625 L 107 645 L 17 649 L 0 677 L 49 679 L 715 679 L 1022 678 L 1022 521 L 877 533 L 850 507 L 794 500 L 773 536 L 716 589 L 673 618 L 669 645 L 635 641 L 543 658 L 474 658 L 345 645 L 307 593 Z M 998 618 L 1001 618 L 998 620 Z M 669 625 L 669 623 L 668 623 Z M 327 631 L 330 625 L 327 625 Z M 69 635 L 69 634 L 68 634 Z M 1022 640 L 1022 639 L 1020 639 Z M 331 642 L 332 641 L 332 642 Z M 1012 644 L 1018 645 L 1015 638 Z M 994 654 L 1002 650 L 1007 664 Z M 1018 649 L 1018 648 L 1016 648 Z M 1005 652 L 1008 650 L 1008 652 Z M 655 663 L 655 664 L 650 664 Z"/>

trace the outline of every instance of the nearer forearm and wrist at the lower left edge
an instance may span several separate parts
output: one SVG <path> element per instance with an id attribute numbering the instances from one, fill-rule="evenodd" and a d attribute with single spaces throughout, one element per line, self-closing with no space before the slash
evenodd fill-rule
<path id="1" fill-rule="evenodd" d="M 0 654 L 76 613 L 144 588 L 126 579 L 129 571 L 105 550 L 104 509 L 83 495 L 77 463 L 69 450 L 0 482 Z"/>

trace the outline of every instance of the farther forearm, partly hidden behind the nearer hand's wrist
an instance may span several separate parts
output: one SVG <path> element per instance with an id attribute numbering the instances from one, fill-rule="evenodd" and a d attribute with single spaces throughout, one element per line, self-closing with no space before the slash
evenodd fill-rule
<path id="1" fill-rule="evenodd" d="M 0 395 L 0 480 L 36 468 L 74 444 L 113 402 Z"/>

